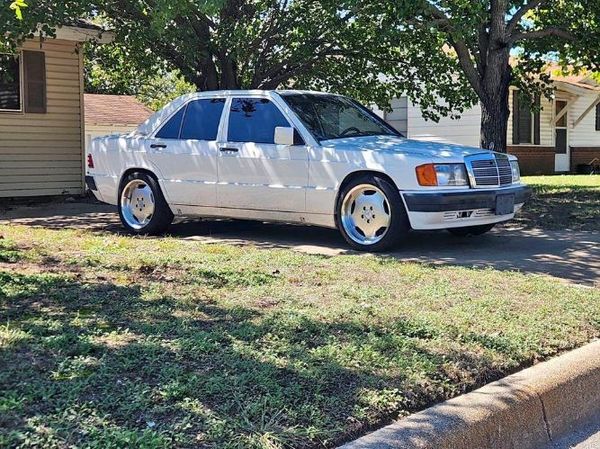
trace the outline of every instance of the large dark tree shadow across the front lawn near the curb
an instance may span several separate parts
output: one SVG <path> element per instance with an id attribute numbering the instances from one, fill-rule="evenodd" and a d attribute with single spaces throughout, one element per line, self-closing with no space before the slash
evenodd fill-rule
<path id="1" fill-rule="evenodd" d="M 506 374 L 482 351 L 432 350 L 445 337 L 410 319 L 321 322 L 0 274 L 5 447 L 333 447 Z"/>

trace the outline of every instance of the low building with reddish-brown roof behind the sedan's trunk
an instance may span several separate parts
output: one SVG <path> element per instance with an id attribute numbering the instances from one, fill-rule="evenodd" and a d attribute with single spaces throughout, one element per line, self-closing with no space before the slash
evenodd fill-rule
<path id="1" fill-rule="evenodd" d="M 95 137 L 130 133 L 154 113 L 129 95 L 85 94 L 84 102 L 86 148 Z"/>

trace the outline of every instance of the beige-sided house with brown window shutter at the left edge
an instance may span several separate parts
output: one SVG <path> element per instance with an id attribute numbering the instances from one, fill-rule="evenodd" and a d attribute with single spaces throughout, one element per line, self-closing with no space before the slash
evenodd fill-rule
<path id="1" fill-rule="evenodd" d="M 84 191 L 82 43 L 111 38 L 77 21 L 0 54 L 0 198 Z"/>

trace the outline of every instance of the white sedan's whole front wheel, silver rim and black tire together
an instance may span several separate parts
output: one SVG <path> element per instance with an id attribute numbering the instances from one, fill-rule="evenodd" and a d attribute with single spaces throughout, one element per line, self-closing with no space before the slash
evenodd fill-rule
<path id="1" fill-rule="evenodd" d="M 361 251 L 383 251 L 410 230 L 408 217 L 395 186 L 376 175 L 349 182 L 340 192 L 336 220 L 346 241 Z"/>

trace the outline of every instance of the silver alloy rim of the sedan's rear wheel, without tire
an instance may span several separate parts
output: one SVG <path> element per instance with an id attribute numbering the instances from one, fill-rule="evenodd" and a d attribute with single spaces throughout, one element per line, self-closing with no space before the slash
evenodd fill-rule
<path id="1" fill-rule="evenodd" d="M 144 229 L 154 215 L 154 193 L 150 186 L 140 179 L 129 181 L 121 194 L 123 219 L 133 229 Z"/>

